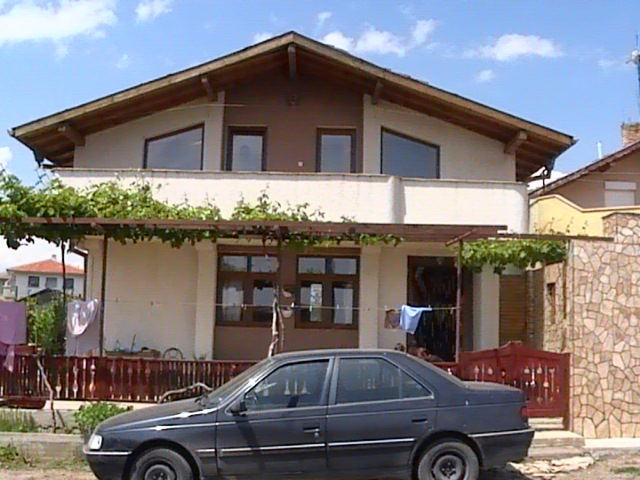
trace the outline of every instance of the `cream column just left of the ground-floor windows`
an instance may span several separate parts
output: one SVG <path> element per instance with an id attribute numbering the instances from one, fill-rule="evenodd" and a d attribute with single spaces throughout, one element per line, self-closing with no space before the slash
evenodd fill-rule
<path id="1" fill-rule="evenodd" d="M 216 246 L 211 242 L 196 245 L 198 282 L 196 291 L 196 328 L 193 351 L 196 356 L 212 359 L 215 330 Z"/>

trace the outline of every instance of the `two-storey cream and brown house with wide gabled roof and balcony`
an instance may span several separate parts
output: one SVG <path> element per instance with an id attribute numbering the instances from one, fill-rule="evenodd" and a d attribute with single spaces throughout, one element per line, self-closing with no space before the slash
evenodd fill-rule
<path id="1" fill-rule="evenodd" d="M 280 264 L 243 239 L 109 243 L 105 347 L 135 336 L 216 359 L 265 356 L 278 271 L 293 307 L 287 350 L 410 342 L 452 360 L 457 287 L 446 241 L 482 228 L 526 232 L 527 179 L 574 141 L 294 32 L 11 134 L 72 186 L 143 177 L 168 201 L 209 199 L 227 218 L 266 190 L 328 221 L 440 232 L 396 247 L 290 250 Z M 100 298 L 103 244 L 84 248 L 87 297 Z M 464 349 L 498 345 L 499 286 L 490 268 L 465 272 Z M 416 335 L 385 323 L 403 304 L 435 307 Z"/>

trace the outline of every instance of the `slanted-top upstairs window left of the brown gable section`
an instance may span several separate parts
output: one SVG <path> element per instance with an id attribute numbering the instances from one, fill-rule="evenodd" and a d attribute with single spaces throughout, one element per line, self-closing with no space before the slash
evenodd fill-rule
<path id="1" fill-rule="evenodd" d="M 204 127 L 199 125 L 159 137 L 144 145 L 144 168 L 202 170 Z"/>

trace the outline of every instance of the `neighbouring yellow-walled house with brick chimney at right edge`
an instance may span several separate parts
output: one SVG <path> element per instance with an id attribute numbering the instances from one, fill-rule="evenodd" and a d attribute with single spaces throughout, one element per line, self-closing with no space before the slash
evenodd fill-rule
<path id="1" fill-rule="evenodd" d="M 622 149 L 531 192 L 532 231 L 602 235 L 602 219 L 640 213 L 640 124 L 622 125 Z"/>

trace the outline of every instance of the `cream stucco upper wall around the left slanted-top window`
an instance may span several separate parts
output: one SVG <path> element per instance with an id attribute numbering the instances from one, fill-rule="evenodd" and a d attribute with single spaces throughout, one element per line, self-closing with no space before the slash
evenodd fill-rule
<path id="1" fill-rule="evenodd" d="M 224 92 L 217 102 L 198 101 L 103 130 L 76 147 L 74 166 L 84 168 L 142 168 L 148 138 L 204 124 L 204 170 L 220 170 Z"/>

